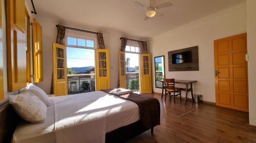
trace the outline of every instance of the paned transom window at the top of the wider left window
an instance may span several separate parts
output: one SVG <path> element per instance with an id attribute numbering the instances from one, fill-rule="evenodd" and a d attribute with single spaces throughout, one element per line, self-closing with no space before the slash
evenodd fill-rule
<path id="1" fill-rule="evenodd" d="M 76 38 L 76 37 L 67 37 L 66 45 L 69 47 L 78 47 L 78 48 L 94 48 L 95 41 L 91 39 Z"/>

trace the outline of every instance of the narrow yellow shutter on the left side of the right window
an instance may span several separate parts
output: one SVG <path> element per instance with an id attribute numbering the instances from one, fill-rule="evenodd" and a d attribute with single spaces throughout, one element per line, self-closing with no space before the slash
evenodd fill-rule
<path id="1" fill-rule="evenodd" d="M 119 87 L 126 89 L 125 52 L 119 51 Z"/>

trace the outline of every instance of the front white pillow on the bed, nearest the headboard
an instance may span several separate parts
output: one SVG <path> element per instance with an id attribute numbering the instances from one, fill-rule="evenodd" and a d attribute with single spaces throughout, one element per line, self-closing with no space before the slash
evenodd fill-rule
<path id="1" fill-rule="evenodd" d="M 29 91 L 9 95 L 9 102 L 17 114 L 28 122 L 42 123 L 46 120 L 47 106 Z"/>

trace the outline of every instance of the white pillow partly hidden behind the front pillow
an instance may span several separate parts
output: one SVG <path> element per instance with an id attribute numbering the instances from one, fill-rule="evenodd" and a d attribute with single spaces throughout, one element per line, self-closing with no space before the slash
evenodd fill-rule
<path id="1" fill-rule="evenodd" d="M 46 106 L 51 105 L 51 101 L 49 99 L 49 96 L 39 87 L 33 84 L 28 84 L 27 90 L 33 93 L 35 96 L 37 96 L 39 99 L 42 100 L 46 104 Z"/>

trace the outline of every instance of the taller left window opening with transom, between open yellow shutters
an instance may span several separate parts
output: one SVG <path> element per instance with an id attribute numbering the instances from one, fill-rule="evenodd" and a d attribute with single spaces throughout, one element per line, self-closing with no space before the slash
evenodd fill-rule
<path id="1" fill-rule="evenodd" d="M 69 94 L 95 91 L 95 41 L 82 34 L 66 35 Z"/>

